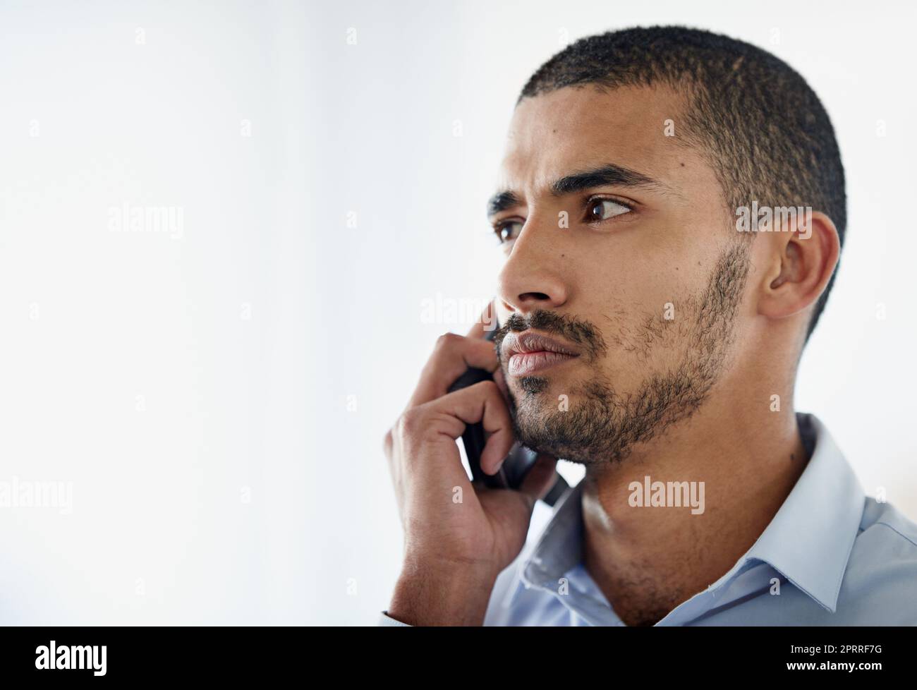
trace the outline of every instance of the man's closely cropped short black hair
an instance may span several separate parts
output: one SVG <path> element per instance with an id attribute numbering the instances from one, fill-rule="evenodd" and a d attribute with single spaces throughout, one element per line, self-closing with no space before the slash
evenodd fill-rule
<path id="1" fill-rule="evenodd" d="M 844 165 L 831 120 L 801 75 L 767 50 L 697 28 L 608 31 L 579 39 L 545 62 L 516 103 L 587 84 L 600 91 L 661 84 L 684 94 L 687 112 L 680 131 L 676 123 L 676 139 L 711 163 L 730 215 L 753 200 L 812 206 L 831 217 L 844 246 Z M 812 312 L 807 341 L 835 275 Z"/>

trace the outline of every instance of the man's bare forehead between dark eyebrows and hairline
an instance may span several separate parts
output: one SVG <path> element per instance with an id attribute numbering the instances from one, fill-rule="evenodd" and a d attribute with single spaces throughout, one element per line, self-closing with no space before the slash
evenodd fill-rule
<path id="1" fill-rule="evenodd" d="M 568 86 L 524 98 L 507 135 L 503 188 L 541 189 L 608 162 L 665 179 L 688 153 L 667 136 L 677 135 L 680 113 L 679 97 L 663 88 Z"/>

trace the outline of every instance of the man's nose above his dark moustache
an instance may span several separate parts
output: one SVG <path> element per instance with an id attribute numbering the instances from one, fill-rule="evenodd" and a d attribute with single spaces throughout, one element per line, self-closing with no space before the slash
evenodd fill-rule
<path id="1" fill-rule="evenodd" d="M 562 272 L 563 245 L 569 229 L 528 217 L 497 282 L 497 296 L 511 312 L 556 309 L 567 302 L 569 285 Z"/>

